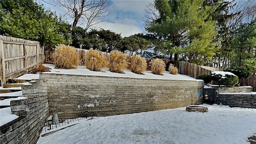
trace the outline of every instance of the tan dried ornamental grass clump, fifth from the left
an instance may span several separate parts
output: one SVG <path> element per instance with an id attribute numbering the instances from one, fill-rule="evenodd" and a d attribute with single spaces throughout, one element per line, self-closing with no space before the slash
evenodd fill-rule
<path id="1" fill-rule="evenodd" d="M 165 70 L 165 64 L 164 64 L 164 61 L 163 60 L 160 60 L 158 58 L 152 60 L 150 62 L 151 64 L 151 71 L 152 71 L 152 74 L 158 74 L 158 75 L 161 75 L 162 72 L 164 72 Z"/>

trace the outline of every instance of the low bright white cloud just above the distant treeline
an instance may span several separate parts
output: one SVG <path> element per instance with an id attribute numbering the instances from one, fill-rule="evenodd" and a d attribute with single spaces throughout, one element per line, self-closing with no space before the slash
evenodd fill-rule
<path id="1" fill-rule="evenodd" d="M 121 34 L 122 37 L 142 32 L 138 26 L 130 24 L 104 22 L 104 26 L 102 26 L 102 28 Z"/>

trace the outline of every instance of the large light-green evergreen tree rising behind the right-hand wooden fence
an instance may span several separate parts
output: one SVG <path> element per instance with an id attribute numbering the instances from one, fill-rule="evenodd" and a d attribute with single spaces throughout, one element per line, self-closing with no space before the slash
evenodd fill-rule
<path id="1" fill-rule="evenodd" d="M 213 39 L 217 32 L 212 14 L 216 5 L 204 6 L 204 0 L 156 0 L 159 18 L 146 25 L 146 30 L 164 41 L 170 54 L 184 53 L 189 62 L 204 64 L 216 51 Z M 185 58 L 186 58 L 185 57 Z M 177 60 L 177 54 L 174 58 Z"/>

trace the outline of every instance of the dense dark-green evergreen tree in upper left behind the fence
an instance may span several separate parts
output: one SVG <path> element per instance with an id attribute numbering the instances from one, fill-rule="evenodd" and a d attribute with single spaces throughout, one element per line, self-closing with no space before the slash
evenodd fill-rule
<path id="1" fill-rule="evenodd" d="M 49 46 L 70 43 L 69 25 L 33 0 L 1 0 L 0 15 L 2 35 L 36 40 Z"/>

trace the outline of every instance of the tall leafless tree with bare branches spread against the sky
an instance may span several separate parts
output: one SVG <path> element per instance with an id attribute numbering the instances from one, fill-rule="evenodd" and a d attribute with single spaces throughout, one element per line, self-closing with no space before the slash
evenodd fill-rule
<path id="1" fill-rule="evenodd" d="M 112 5 L 110 0 L 56 0 L 55 2 L 64 8 L 66 12 L 64 16 L 73 19 L 72 30 L 79 22 L 86 31 L 104 22 L 104 18 L 110 14 Z"/>

